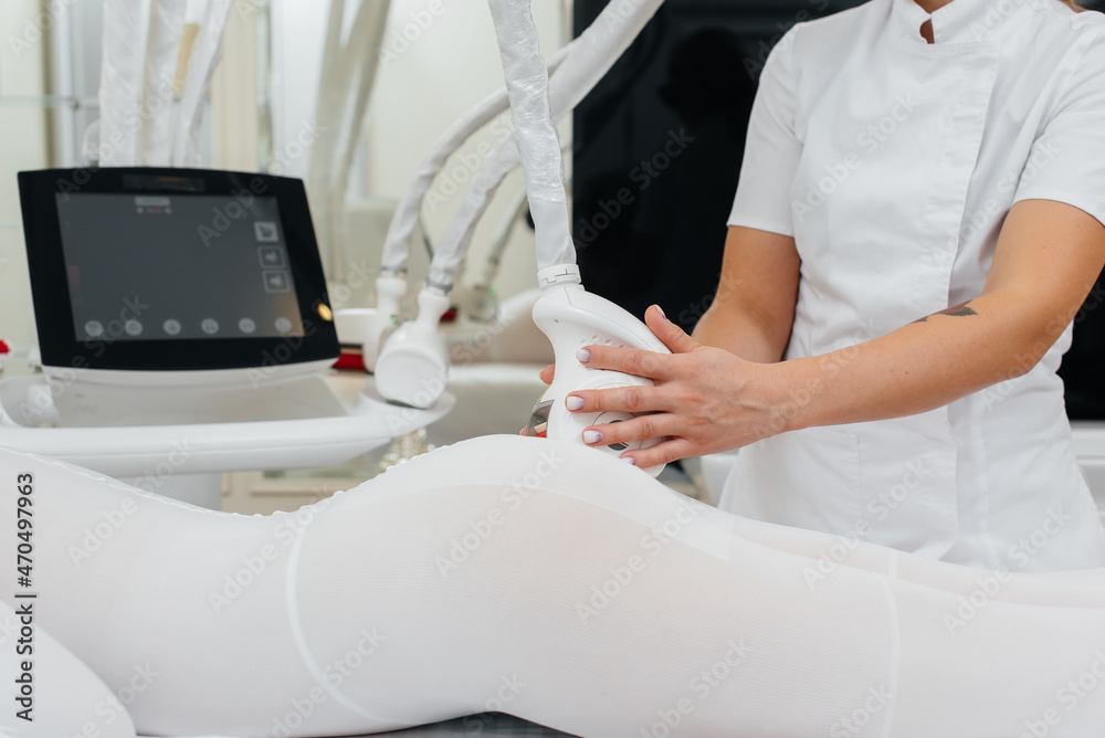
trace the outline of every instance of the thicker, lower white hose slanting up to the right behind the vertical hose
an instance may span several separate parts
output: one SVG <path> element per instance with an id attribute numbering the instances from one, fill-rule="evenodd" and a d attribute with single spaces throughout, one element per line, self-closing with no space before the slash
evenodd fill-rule
<path id="1" fill-rule="evenodd" d="M 594 22 L 576 39 L 576 49 L 550 80 L 549 103 L 552 119 L 559 120 L 575 109 L 636 39 L 662 2 L 663 0 L 642 0 L 632 8 L 630 15 L 623 14 L 625 11 L 623 3 L 617 0 L 612 0 L 602 9 Z M 517 143 L 514 138 L 507 138 L 487 157 L 480 171 L 472 178 L 469 191 L 434 253 L 428 277 L 430 284 L 444 287 L 455 282 L 457 270 L 464 262 L 480 218 L 487 209 L 495 189 L 518 161 Z M 534 218 L 536 222 L 536 212 Z M 557 263 L 567 263 L 566 254 L 558 254 L 551 244 L 544 250 L 541 246 L 541 242 L 538 241 L 538 270 Z"/>

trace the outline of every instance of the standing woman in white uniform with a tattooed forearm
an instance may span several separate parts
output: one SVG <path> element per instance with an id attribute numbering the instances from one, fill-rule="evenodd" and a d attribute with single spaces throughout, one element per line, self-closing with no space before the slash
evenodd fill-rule
<path id="1" fill-rule="evenodd" d="M 656 379 L 628 400 L 659 412 L 636 435 L 670 440 L 638 464 L 746 446 L 733 513 L 980 568 L 1103 566 L 1055 375 L 1102 222 L 1105 15 L 872 0 L 798 24 L 764 68 L 695 331 L 749 361 L 650 310 L 675 357 L 590 363 Z"/>

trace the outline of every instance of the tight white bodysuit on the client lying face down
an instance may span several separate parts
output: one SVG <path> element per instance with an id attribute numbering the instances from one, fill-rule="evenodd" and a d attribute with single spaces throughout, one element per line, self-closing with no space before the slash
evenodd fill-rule
<path id="1" fill-rule="evenodd" d="M 581 446 L 476 439 L 267 517 L 0 451 L 15 609 L 22 473 L 34 626 L 139 732 L 334 736 L 488 709 L 602 738 L 1105 726 L 1105 570 L 865 544 L 829 566 L 838 538 L 688 502 Z M 45 685 L 49 653 L 34 668 Z"/>

